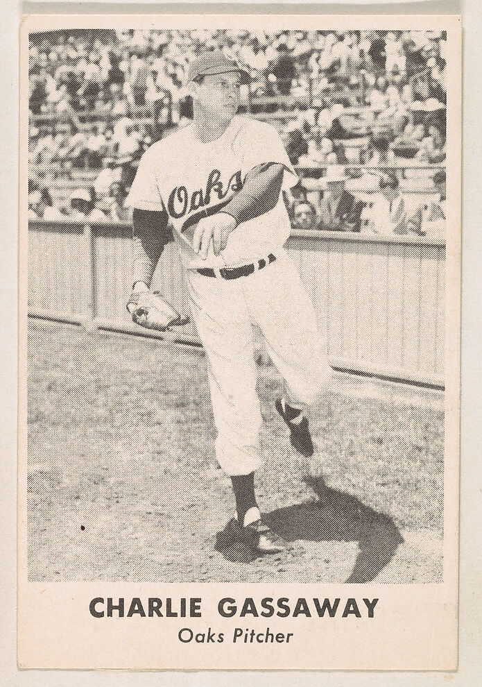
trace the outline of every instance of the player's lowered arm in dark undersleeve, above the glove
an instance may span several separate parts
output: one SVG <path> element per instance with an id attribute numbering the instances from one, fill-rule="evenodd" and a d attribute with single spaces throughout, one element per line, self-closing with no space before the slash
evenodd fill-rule
<path id="1" fill-rule="evenodd" d="M 134 263 L 132 266 L 132 289 L 146 291 L 153 280 L 153 274 L 164 251 L 171 240 L 169 216 L 165 210 L 139 210 L 132 214 L 132 241 Z"/>

